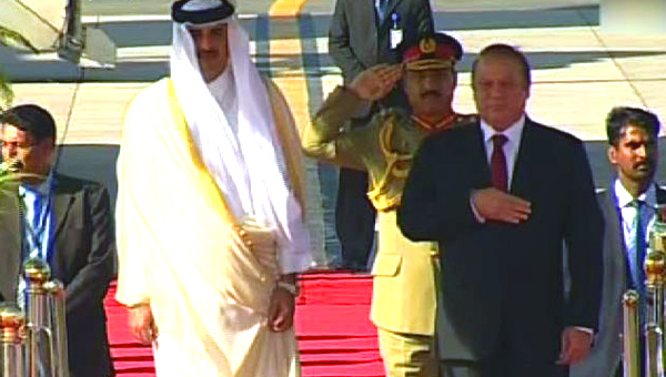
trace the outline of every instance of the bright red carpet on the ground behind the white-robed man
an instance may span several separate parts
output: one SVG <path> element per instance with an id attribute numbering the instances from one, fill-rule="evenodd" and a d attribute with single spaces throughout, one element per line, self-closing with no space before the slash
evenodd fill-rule
<path id="1" fill-rule="evenodd" d="M 367 319 L 372 279 L 367 275 L 313 273 L 301 278 L 296 334 L 303 376 L 383 377 L 376 332 Z M 154 376 L 152 351 L 133 340 L 125 309 L 105 299 L 109 340 L 119 377 Z M 259 377 L 259 376 L 258 376 Z"/>

